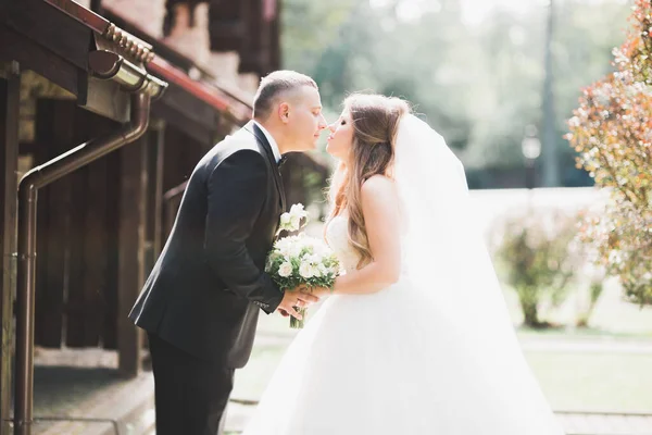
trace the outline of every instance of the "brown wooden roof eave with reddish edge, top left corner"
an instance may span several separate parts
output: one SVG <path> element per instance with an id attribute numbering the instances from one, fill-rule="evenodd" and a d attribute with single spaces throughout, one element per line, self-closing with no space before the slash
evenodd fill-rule
<path id="1" fill-rule="evenodd" d="M 89 52 L 105 48 L 106 42 L 113 44 L 118 54 L 140 62 L 151 74 L 170 83 L 160 102 L 172 105 L 171 115 L 178 111 L 192 113 L 203 107 L 204 116 L 197 116 L 195 123 L 208 129 L 216 128 L 218 114 L 226 114 L 237 124 L 243 124 L 251 115 L 249 105 L 210 84 L 190 78 L 188 73 L 155 57 L 150 45 L 72 0 L 2 2 L 0 40 L 3 41 L 0 60 L 18 61 L 23 69 L 33 70 L 71 91 L 80 105 L 117 121 L 124 122 L 128 116 L 126 94 L 117 84 L 88 74 Z M 185 98 L 174 98 L 179 95 Z M 179 108 L 183 101 L 192 103 Z M 206 116 L 210 111 L 212 115 Z"/>

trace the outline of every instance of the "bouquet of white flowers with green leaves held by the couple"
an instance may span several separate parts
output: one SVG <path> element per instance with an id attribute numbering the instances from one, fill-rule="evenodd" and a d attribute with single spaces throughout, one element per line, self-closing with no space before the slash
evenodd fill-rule
<path id="1" fill-rule="evenodd" d="M 305 226 L 301 220 L 308 221 L 308 213 L 302 204 L 294 204 L 289 213 L 280 216 L 279 232 L 298 231 Z M 337 257 L 321 239 L 301 233 L 278 239 L 267 257 L 265 272 L 283 289 L 289 290 L 300 285 L 333 288 L 339 274 L 340 265 Z M 304 324 L 305 308 L 299 309 L 302 320 L 290 318 L 290 327 L 301 328 Z"/>

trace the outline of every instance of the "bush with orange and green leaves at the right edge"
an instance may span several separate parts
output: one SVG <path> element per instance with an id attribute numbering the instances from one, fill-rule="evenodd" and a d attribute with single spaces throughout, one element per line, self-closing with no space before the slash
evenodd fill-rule
<path id="1" fill-rule="evenodd" d="M 617 72 L 582 90 L 566 138 L 578 167 L 610 191 L 587 215 L 581 238 L 618 276 L 629 300 L 652 304 L 652 5 L 637 0 L 627 40 L 614 50 Z"/>

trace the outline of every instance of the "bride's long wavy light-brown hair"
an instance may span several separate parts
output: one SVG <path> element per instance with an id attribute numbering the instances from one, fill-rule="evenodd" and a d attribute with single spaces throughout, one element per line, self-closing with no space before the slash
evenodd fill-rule
<path id="1" fill-rule="evenodd" d="M 338 214 L 348 213 L 349 241 L 359 253 L 360 269 L 373 259 L 362 213 L 362 185 L 374 175 L 392 176 L 399 120 L 411 110 L 400 98 L 353 94 L 344 100 L 344 111 L 353 121 L 350 167 L 342 161 L 333 175 L 328 191 L 331 212 L 327 224 Z"/>

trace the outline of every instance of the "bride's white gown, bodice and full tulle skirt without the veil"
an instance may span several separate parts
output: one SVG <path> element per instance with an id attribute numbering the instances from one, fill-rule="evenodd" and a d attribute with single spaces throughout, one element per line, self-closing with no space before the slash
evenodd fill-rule
<path id="1" fill-rule="evenodd" d="M 349 270 L 347 220 L 327 240 Z M 434 272 L 436 273 L 436 272 Z M 561 435 L 522 355 L 498 355 L 405 270 L 376 294 L 331 296 L 292 341 L 244 435 Z M 515 338 L 514 338 L 515 339 Z"/>

